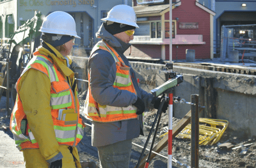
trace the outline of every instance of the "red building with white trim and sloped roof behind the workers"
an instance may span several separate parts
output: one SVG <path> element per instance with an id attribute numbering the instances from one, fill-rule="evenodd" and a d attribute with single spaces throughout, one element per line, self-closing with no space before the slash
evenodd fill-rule
<path id="1" fill-rule="evenodd" d="M 164 0 L 162 3 L 159 4 L 159 0 L 134 0 L 133 8 L 140 28 L 136 29 L 130 42 L 131 57 L 169 60 L 170 4 L 164 4 Z M 214 15 L 214 11 L 198 0 L 173 0 L 173 60 L 186 59 L 186 49 L 195 50 L 196 59 L 213 58 Z M 126 54 L 129 52 L 127 50 Z"/>

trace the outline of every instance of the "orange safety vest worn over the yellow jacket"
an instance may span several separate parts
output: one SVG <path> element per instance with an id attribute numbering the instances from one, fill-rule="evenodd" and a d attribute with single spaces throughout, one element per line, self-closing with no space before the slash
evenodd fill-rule
<path id="1" fill-rule="evenodd" d="M 76 146 L 77 143 L 81 141 L 84 134 L 84 123 L 79 116 L 78 98 L 75 97 L 72 88 L 63 74 L 58 71 L 57 67 L 52 64 L 51 60 L 45 57 L 45 55 L 35 52 L 33 59 L 30 60 L 28 66 L 26 66 L 20 77 L 31 68 L 41 71 L 51 80 L 51 115 L 58 144 Z M 19 85 L 19 82 L 20 78 L 17 81 L 17 85 Z M 70 118 L 69 120 L 61 120 L 59 118 L 60 109 L 68 109 L 68 113 L 72 113 L 73 120 L 70 121 Z M 74 115 L 74 113 L 77 115 Z M 12 130 L 15 143 L 20 151 L 26 148 L 39 148 L 38 143 L 29 128 L 29 123 L 27 124 L 26 134 L 22 134 L 20 125 L 24 118 L 26 118 L 26 115 L 20 100 L 19 90 L 17 89 L 17 99 L 12 111 L 10 130 Z"/>

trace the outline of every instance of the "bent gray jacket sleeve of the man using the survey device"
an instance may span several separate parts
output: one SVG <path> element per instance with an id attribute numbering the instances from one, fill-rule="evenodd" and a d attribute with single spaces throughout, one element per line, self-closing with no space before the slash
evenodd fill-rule
<path id="1" fill-rule="evenodd" d="M 137 100 L 137 95 L 113 87 L 116 64 L 112 55 L 104 50 L 93 53 L 88 62 L 90 87 L 95 101 L 102 105 L 127 107 Z"/>

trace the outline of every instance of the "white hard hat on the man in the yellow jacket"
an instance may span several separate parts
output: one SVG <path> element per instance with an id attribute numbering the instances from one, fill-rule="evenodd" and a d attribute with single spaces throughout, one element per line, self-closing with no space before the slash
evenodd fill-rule
<path id="1" fill-rule="evenodd" d="M 65 11 L 54 11 L 49 14 L 39 31 L 80 38 L 76 33 L 76 22 L 74 18 Z"/>

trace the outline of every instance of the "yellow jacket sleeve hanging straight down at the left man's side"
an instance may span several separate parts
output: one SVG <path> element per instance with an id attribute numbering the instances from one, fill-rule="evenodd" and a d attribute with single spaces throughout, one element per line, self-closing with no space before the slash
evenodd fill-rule
<path id="1" fill-rule="evenodd" d="M 44 73 L 29 69 L 17 86 L 20 99 L 39 150 L 49 163 L 60 160 L 63 156 L 58 150 L 52 115 L 51 81 Z"/>

